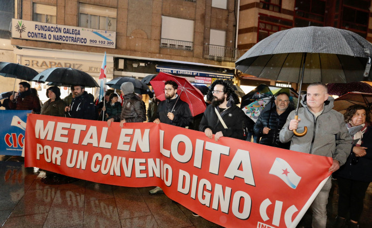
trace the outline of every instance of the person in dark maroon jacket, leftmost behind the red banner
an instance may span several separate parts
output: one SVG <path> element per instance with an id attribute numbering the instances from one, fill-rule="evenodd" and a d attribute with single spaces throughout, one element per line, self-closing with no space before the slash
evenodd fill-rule
<path id="1" fill-rule="evenodd" d="M 19 91 L 15 95 L 10 95 L 8 103 L 10 109 L 16 110 L 32 110 L 31 113 L 40 112 L 40 99 L 33 94 L 30 89 L 31 85 L 28 82 L 19 83 Z"/>

